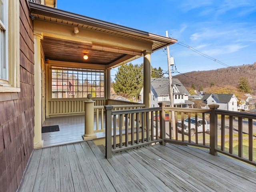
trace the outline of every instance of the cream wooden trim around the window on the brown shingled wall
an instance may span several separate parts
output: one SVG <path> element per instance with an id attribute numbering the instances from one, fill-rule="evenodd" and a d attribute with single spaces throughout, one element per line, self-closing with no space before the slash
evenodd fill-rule
<path id="1" fill-rule="evenodd" d="M 0 92 L 20 92 L 20 1 L 6 0 L 8 3 L 8 49 L 6 80 L 0 79 Z M 6 26 L 7 27 L 7 26 Z"/>

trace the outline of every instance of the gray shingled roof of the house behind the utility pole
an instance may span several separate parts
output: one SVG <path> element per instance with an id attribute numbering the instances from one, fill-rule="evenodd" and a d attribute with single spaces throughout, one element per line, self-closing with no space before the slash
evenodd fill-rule
<path id="1" fill-rule="evenodd" d="M 158 96 L 170 94 L 170 80 L 169 78 L 151 78 L 152 90 L 156 92 Z M 189 95 L 188 90 L 183 86 L 180 80 L 173 78 L 172 87 L 176 85 L 180 93 Z"/>

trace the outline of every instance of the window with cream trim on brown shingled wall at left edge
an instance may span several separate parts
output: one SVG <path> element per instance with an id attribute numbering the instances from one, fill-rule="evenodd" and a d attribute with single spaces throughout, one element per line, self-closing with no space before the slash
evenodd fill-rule
<path id="1" fill-rule="evenodd" d="M 19 13 L 20 1 L 0 0 L 0 92 L 20 91 Z"/>

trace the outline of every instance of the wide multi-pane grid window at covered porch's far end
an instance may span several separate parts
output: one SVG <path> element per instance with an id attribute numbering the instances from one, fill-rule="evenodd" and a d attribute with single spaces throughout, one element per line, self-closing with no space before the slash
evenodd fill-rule
<path id="1" fill-rule="evenodd" d="M 52 67 L 52 98 L 104 98 L 104 70 Z"/>

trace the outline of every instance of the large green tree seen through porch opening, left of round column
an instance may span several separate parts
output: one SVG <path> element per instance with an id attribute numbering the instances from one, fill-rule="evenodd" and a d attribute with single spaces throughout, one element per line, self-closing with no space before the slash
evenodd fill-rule
<path id="1" fill-rule="evenodd" d="M 117 94 L 127 94 L 138 99 L 143 87 L 143 64 L 124 64 L 118 68 L 113 88 Z"/>

